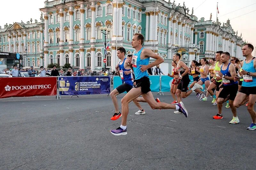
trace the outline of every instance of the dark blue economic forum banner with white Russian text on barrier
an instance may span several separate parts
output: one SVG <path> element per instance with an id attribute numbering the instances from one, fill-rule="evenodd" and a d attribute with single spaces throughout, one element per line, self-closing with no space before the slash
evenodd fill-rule
<path id="1" fill-rule="evenodd" d="M 108 94 L 108 76 L 65 76 L 59 77 L 60 95 Z"/>

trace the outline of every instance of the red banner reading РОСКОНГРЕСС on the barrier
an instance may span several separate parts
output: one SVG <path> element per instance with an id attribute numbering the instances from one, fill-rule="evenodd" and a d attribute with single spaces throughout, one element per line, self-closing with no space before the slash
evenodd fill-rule
<path id="1" fill-rule="evenodd" d="M 0 98 L 53 96 L 56 94 L 56 77 L 0 78 Z"/>

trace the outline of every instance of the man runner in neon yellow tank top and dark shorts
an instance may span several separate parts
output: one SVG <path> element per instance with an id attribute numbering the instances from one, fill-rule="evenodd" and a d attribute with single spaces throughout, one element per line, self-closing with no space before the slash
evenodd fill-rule
<path id="1" fill-rule="evenodd" d="M 214 77 L 211 79 L 212 83 L 210 83 L 209 87 L 207 88 L 207 92 L 212 96 L 212 105 L 217 105 L 217 97 L 218 93 L 220 91 L 220 84 L 222 83 L 222 79 L 216 80 L 216 77 L 219 77 L 218 73 L 220 72 L 220 66 L 221 66 L 221 61 L 220 61 L 220 55 L 223 53 L 223 51 L 217 51 L 215 53 L 215 68 L 214 68 Z M 214 95 L 212 89 L 216 88 L 216 95 Z"/>

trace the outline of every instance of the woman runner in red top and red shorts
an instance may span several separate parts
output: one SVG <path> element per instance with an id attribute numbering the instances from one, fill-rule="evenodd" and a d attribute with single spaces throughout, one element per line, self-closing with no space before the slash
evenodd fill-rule
<path id="1" fill-rule="evenodd" d="M 177 87 L 179 82 L 177 82 L 176 80 L 179 78 L 179 73 L 175 71 L 175 68 L 177 67 L 177 63 L 175 63 L 174 61 L 172 61 L 172 75 L 170 75 L 169 73 L 167 74 L 167 76 L 172 77 L 173 79 L 170 81 L 169 85 L 170 85 L 170 92 L 172 94 L 172 98 L 173 98 L 173 102 L 171 103 L 172 105 L 178 104 L 177 101 L 177 97 L 175 95 Z"/>

